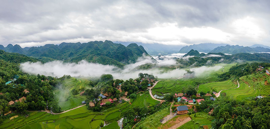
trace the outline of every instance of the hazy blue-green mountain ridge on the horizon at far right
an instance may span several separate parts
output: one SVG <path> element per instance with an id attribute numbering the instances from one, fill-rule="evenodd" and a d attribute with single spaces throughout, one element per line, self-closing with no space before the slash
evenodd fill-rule
<path id="1" fill-rule="evenodd" d="M 239 45 L 226 45 L 226 46 L 219 46 L 210 53 L 224 53 L 224 54 L 236 54 L 236 53 L 260 53 L 260 52 L 270 52 L 270 49 L 263 48 L 263 47 L 244 47 Z"/>

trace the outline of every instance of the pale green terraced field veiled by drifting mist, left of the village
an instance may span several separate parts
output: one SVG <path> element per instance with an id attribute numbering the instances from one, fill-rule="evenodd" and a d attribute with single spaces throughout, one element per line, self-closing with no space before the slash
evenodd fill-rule
<path id="1" fill-rule="evenodd" d="M 85 100 L 86 96 L 80 96 L 80 94 L 73 96 L 71 91 L 74 88 L 92 88 L 88 86 L 88 83 L 89 81 L 87 79 L 70 78 L 65 80 L 64 85 L 58 86 L 58 88 L 54 90 L 54 93 L 59 98 L 61 110 L 68 110 L 80 105 L 81 102 Z"/>

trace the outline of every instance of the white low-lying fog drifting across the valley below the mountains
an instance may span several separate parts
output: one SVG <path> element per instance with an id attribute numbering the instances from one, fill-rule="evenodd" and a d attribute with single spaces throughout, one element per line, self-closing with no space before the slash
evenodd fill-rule
<path id="1" fill-rule="evenodd" d="M 87 61 L 80 61 L 78 63 L 66 63 L 62 61 L 52 61 L 47 63 L 41 62 L 25 62 L 20 65 L 21 69 L 30 74 L 40 74 L 46 76 L 57 76 L 61 77 L 63 75 L 71 75 L 74 77 L 97 77 L 102 74 L 111 74 L 114 79 L 127 80 L 129 78 L 137 78 L 140 72 L 153 74 L 158 76 L 158 78 L 179 78 L 186 73 L 185 69 L 177 69 L 164 72 L 159 68 L 153 68 L 150 70 L 137 70 L 136 67 L 146 63 L 156 64 L 157 66 L 171 66 L 177 64 L 177 62 L 172 58 L 164 58 L 163 60 L 156 59 L 151 60 L 149 56 L 143 56 L 137 60 L 136 63 L 128 64 L 123 69 L 115 66 L 102 65 L 97 63 L 90 63 Z M 222 66 L 214 67 L 196 67 L 191 68 L 191 71 L 195 71 L 196 75 L 208 73 L 210 71 L 217 71 L 221 69 Z"/>

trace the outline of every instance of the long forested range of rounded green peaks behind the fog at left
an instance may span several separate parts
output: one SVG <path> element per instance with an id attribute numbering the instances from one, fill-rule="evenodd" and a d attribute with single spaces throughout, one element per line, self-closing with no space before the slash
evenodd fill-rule
<path id="1" fill-rule="evenodd" d="M 123 67 L 124 64 L 136 62 L 138 57 L 146 50 L 135 43 L 124 46 L 112 41 L 91 41 L 88 43 L 61 43 L 60 45 L 46 44 L 40 47 L 25 47 L 20 45 L 0 45 L 0 49 L 11 52 L 24 54 L 30 57 L 38 58 L 43 62 L 52 60 L 63 60 L 64 62 L 79 62 L 87 60 L 104 65 L 116 65 Z"/>

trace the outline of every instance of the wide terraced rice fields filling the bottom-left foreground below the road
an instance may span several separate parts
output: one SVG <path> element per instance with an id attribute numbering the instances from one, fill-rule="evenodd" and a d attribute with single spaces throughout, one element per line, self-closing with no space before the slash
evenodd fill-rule
<path id="1" fill-rule="evenodd" d="M 122 103 L 103 112 L 87 110 L 86 106 L 59 115 L 47 114 L 45 112 L 31 112 L 28 118 L 20 115 L 13 120 L 5 120 L 0 125 L 0 129 L 12 129 L 15 127 L 23 129 L 99 129 L 99 125 L 103 121 L 113 122 L 112 125 L 108 126 L 112 128 L 115 127 L 116 122 L 114 121 L 120 119 L 121 113 L 119 110 L 127 109 L 129 107 L 128 105 L 128 103 Z"/>

